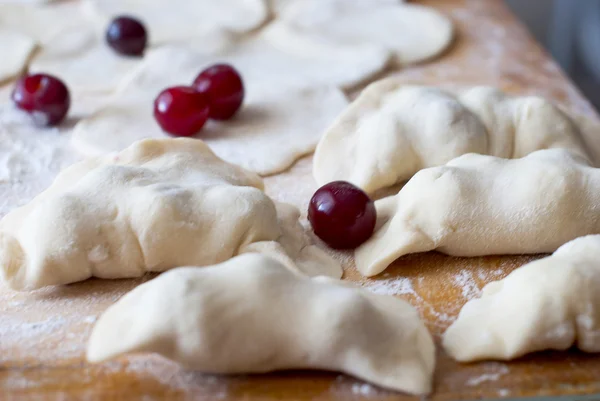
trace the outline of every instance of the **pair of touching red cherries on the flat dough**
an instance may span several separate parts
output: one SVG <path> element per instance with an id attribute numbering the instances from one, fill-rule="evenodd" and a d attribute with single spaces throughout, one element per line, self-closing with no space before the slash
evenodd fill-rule
<path id="1" fill-rule="evenodd" d="M 192 136 L 209 118 L 233 117 L 243 101 L 240 74 L 230 65 L 215 64 L 202 71 L 192 86 L 162 91 L 154 101 L 154 118 L 171 135 Z"/>

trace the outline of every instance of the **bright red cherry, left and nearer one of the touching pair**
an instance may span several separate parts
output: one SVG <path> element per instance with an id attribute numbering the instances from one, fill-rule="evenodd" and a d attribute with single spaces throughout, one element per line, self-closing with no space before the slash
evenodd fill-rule
<path id="1" fill-rule="evenodd" d="M 154 118 L 164 131 L 176 136 L 196 134 L 209 112 L 206 95 L 189 86 L 165 89 L 154 101 Z"/>

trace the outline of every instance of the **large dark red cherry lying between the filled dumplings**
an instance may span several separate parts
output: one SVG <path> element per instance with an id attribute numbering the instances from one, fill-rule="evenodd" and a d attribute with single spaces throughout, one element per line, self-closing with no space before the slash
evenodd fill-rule
<path id="1" fill-rule="evenodd" d="M 375 204 L 360 188 L 345 181 L 319 188 L 308 206 L 317 237 L 335 249 L 353 249 L 373 235 Z"/>

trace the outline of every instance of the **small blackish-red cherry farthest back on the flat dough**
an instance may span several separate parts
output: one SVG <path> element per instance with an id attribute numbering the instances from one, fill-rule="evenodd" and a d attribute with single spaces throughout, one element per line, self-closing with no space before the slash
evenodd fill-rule
<path id="1" fill-rule="evenodd" d="M 125 56 L 141 56 L 148 43 L 144 25 L 132 17 L 117 17 L 106 30 L 106 42 L 117 53 Z"/>

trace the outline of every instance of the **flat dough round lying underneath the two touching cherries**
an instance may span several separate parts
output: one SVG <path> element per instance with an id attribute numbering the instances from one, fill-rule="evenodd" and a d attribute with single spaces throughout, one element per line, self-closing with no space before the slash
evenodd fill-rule
<path id="1" fill-rule="evenodd" d="M 246 77 L 246 99 L 239 114 L 225 122 L 209 121 L 198 137 L 226 161 L 269 175 L 311 153 L 348 102 L 332 86 L 290 88 L 254 79 L 251 72 L 244 74 L 249 62 L 235 63 Z M 210 63 L 184 49 L 157 50 L 112 101 L 75 127 L 73 145 L 98 155 L 142 138 L 167 137 L 152 115 L 156 95 L 165 87 L 192 82 Z"/>

